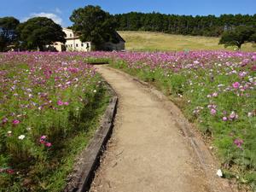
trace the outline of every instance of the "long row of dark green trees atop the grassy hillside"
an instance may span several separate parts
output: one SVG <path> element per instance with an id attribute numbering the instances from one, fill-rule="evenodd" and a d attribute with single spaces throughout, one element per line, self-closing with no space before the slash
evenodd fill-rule
<path id="1" fill-rule="evenodd" d="M 165 15 L 138 13 L 113 15 L 119 31 L 149 31 L 219 37 L 236 26 L 256 26 L 255 15 Z"/>

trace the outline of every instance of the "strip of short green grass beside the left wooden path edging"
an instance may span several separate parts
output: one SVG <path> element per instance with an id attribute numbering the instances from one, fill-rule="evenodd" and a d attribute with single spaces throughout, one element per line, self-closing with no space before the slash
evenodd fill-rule
<path id="1" fill-rule="evenodd" d="M 109 93 L 104 89 L 97 94 L 95 101 L 90 106 L 84 108 L 81 118 L 84 119 L 82 124 L 86 127 L 87 131 L 81 130 L 65 141 L 64 154 L 60 157 L 61 164 L 56 166 L 51 171 L 51 174 L 48 172 L 45 182 L 41 183 L 46 191 L 58 192 L 64 189 L 67 184 L 67 175 L 73 170 L 74 160 L 88 143 L 90 143 L 90 139 L 94 136 L 96 128 L 99 126 L 99 119 L 108 106 L 108 102 Z"/>

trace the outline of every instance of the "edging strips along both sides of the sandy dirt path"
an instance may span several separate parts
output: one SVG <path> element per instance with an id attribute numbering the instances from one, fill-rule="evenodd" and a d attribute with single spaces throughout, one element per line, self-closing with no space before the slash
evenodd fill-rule
<path id="1" fill-rule="evenodd" d="M 170 113 L 175 117 L 175 124 L 177 127 L 183 131 L 183 136 L 189 141 L 191 147 L 194 149 L 195 154 L 200 162 L 200 166 L 205 172 L 209 184 L 209 189 L 211 191 L 222 191 L 231 192 L 230 184 L 227 180 L 216 177 L 216 170 L 218 166 L 216 165 L 212 154 L 209 152 L 205 143 L 201 141 L 201 138 L 196 136 L 195 131 L 187 119 L 184 118 L 183 113 L 175 106 L 166 96 L 164 96 L 159 90 L 156 90 L 153 86 L 140 81 L 139 79 L 132 78 L 130 75 L 120 72 L 119 70 L 109 68 L 115 73 L 120 73 L 124 75 L 127 79 L 131 79 L 138 85 L 143 86 L 143 89 L 147 90 L 149 94 L 156 96 L 160 102 L 164 103 L 165 108 L 170 109 Z M 67 191 L 86 191 L 90 189 L 90 183 L 94 177 L 94 171 L 99 163 L 99 157 L 102 154 L 105 144 L 108 142 L 108 138 L 112 132 L 113 118 L 116 112 L 116 105 L 118 97 L 115 91 L 112 89 L 111 85 L 108 84 L 108 89 L 113 93 L 113 97 L 110 101 L 108 109 L 102 119 L 102 125 L 100 129 L 96 132 L 96 136 L 93 137 L 88 148 L 85 148 L 82 154 L 79 156 L 79 161 L 76 164 L 73 174 L 68 177 Z"/>

